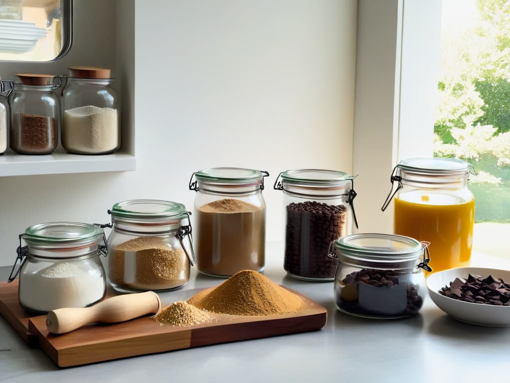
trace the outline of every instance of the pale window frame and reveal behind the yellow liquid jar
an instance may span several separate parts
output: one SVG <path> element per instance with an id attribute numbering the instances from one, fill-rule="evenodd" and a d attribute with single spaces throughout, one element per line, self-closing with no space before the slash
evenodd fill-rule
<path id="1" fill-rule="evenodd" d="M 441 0 L 359 0 L 353 174 L 361 232 L 393 232 L 381 211 L 398 161 L 433 155 Z"/>

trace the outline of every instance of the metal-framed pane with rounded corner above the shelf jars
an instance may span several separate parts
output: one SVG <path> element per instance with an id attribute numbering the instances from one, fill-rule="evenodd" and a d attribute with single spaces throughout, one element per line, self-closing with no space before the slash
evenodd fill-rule
<path id="1" fill-rule="evenodd" d="M 0 0 L 0 60 L 50 61 L 71 47 L 72 0 Z"/>

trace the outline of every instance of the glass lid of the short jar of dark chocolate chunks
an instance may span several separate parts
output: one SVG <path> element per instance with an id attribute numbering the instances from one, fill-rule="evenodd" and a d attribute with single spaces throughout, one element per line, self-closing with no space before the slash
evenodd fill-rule
<path id="1" fill-rule="evenodd" d="M 377 260 L 416 259 L 422 243 L 414 238 L 395 234 L 352 234 L 339 238 L 335 247 L 349 256 L 363 255 Z"/>

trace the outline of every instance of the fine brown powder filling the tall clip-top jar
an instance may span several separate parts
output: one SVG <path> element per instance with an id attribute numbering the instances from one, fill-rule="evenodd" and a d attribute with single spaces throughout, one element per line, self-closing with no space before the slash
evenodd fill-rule
<path id="1" fill-rule="evenodd" d="M 199 271 L 219 276 L 231 276 L 240 270 L 262 271 L 264 208 L 236 199 L 222 199 L 197 210 Z"/>

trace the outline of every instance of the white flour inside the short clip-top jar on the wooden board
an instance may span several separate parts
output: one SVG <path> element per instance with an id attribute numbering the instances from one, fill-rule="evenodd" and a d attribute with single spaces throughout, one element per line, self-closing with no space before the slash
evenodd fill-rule
<path id="1" fill-rule="evenodd" d="M 57 262 L 19 279 L 19 301 L 47 312 L 62 307 L 86 307 L 105 294 L 105 279 L 86 261 Z"/>

